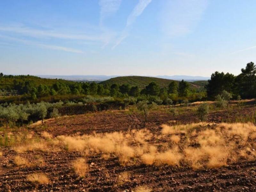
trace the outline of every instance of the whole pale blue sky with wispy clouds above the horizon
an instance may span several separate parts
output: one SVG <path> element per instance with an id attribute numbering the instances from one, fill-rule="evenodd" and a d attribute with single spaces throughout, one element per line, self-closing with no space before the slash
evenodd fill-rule
<path id="1" fill-rule="evenodd" d="M 256 63 L 255 0 L 0 0 L 0 72 L 238 75 Z"/>

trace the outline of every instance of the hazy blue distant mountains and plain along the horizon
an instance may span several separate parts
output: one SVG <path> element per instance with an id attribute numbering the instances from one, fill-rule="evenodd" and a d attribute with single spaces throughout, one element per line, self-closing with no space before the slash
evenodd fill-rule
<path id="1" fill-rule="evenodd" d="M 107 76 L 107 75 L 36 75 L 42 78 L 50 78 L 50 79 L 65 79 L 69 81 L 106 81 L 108 79 L 118 77 L 116 76 Z M 132 76 L 132 75 L 131 75 Z M 202 81 L 208 80 L 210 77 L 203 76 L 187 76 L 187 75 L 174 75 L 174 76 L 150 76 L 150 77 L 158 77 L 163 79 L 171 79 L 176 81 L 184 81 L 193 82 L 193 81 Z"/>

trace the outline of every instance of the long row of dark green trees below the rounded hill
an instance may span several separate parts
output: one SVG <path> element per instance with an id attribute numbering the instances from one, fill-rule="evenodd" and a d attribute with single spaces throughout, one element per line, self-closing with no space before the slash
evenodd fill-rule
<path id="1" fill-rule="evenodd" d="M 48 96 L 57 95 L 93 95 L 93 96 L 111 96 L 116 98 L 127 97 L 148 97 L 155 98 L 157 103 L 182 102 L 184 100 L 201 100 L 205 98 L 206 92 L 203 90 L 192 89 L 184 80 L 179 84 L 172 81 L 168 87 L 160 88 L 155 82 L 149 83 L 144 89 L 130 84 L 97 84 L 95 82 L 70 82 L 57 81 L 52 85 L 36 85 L 33 80 L 15 79 L 15 76 L 2 75 L 0 78 L 14 78 L 13 89 L 18 95 L 26 95 L 33 102 Z M 148 98 L 147 98 L 148 99 Z M 149 99 L 150 100 L 150 99 Z M 162 102 L 161 102 L 162 101 Z"/>

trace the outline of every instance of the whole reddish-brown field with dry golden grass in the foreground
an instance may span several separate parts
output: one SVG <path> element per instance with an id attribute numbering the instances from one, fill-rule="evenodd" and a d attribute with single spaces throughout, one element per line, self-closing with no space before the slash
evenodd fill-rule
<path id="1" fill-rule="evenodd" d="M 130 106 L 2 128 L 0 190 L 255 191 L 253 102 L 211 104 L 207 122 L 195 104 L 158 106 L 145 127 Z"/>

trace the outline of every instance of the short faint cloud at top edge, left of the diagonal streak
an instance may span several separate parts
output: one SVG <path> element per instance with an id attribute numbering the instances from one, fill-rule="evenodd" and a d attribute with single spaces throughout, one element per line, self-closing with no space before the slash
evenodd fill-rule
<path id="1" fill-rule="evenodd" d="M 119 9 L 121 0 L 100 0 L 100 26 L 106 17 L 111 16 Z"/>

